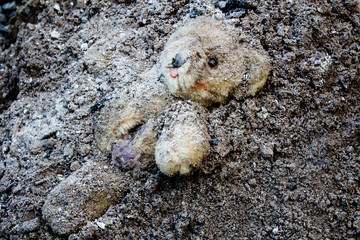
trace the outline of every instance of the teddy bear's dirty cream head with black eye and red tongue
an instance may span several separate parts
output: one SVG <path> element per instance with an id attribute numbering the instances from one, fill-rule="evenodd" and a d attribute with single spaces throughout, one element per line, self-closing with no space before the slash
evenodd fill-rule
<path id="1" fill-rule="evenodd" d="M 202 105 L 225 103 L 231 94 L 237 98 L 254 94 L 265 84 L 269 70 L 266 55 L 240 46 L 226 26 L 210 17 L 199 17 L 177 30 L 161 54 L 170 92 Z"/>

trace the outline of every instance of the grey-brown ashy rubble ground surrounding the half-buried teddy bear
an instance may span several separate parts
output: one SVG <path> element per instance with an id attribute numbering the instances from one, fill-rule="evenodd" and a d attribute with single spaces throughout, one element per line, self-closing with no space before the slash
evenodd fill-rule
<path id="1" fill-rule="evenodd" d="M 0 238 L 359 239 L 359 4 L 19 1 L 0 55 Z M 200 14 L 260 41 L 268 82 L 209 110 L 212 152 L 192 176 L 115 166 L 94 115 Z M 70 227 L 47 218 L 56 201 Z"/>

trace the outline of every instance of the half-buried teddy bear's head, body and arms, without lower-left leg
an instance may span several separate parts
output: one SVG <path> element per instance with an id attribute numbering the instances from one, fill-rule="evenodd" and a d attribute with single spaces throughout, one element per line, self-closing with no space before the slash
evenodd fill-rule
<path id="1" fill-rule="evenodd" d="M 206 118 L 199 115 L 206 111 L 196 109 L 225 103 L 231 95 L 237 99 L 252 95 L 269 74 L 267 55 L 240 46 L 232 34 L 229 25 L 210 17 L 190 20 L 174 32 L 161 54 L 160 65 L 143 73 L 127 97 L 111 101 L 113 109 L 108 106 L 105 114 L 99 114 L 99 148 L 115 150 L 113 159 L 120 156 L 124 160 L 123 155 L 129 155 L 130 150 L 134 156 L 131 160 L 141 161 L 142 154 L 153 154 L 159 169 L 168 176 L 189 174 L 192 167 L 199 166 L 210 152 L 210 136 Z M 176 101 L 170 93 L 189 101 L 175 103 L 181 110 L 172 111 L 165 121 L 168 124 L 160 124 L 160 134 L 155 137 L 154 128 L 159 125 L 152 123 Z M 141 124 L 148 128 L 146 136 L 139 132 L 124 147 L 122 138 Z M 136 145 L 136 150 L 129 143 Z M 121 149 L 124 153 L 119 152 Z M 135 157 L 138 154 L 140 157 Z"/>

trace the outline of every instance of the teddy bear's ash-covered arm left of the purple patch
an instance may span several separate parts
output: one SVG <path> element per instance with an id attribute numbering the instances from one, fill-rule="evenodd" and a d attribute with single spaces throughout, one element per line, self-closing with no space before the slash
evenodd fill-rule
<path id="1" fill-rule="evenodd" d="M 159 75 L 156 65 L 124 91 L 126 97 L 115 96 L 97 114 L 95 138 L 101 151 L 111 151 L 112 145 L 122 142 L 129 130 L 154 119 L 172 102 Z"/>

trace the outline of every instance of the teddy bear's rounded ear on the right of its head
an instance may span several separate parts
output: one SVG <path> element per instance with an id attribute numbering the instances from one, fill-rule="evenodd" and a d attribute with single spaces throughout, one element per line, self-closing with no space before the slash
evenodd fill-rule
<path id="1" fill-rule="evenodd" d="M 246 95 L 254 95 L 262 86 L 264 86 L 269 75 L 271 65 L 269 57 L 256 50 L 246 50 L 245 62 L 249 64 L 250 71 L 247 79 Z"/>

